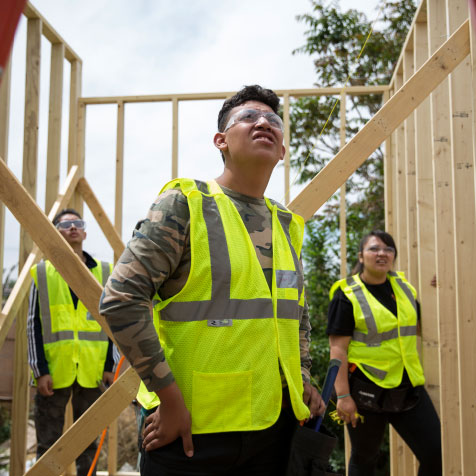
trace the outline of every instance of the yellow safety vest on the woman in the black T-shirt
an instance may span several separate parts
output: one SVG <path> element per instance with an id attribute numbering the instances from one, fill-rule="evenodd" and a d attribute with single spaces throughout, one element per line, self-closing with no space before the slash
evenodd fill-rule
<path id="1" fill-rule="evenodd" d="M 388 279 L 397 301 L 397 317 L 381 304 L 356 274 L 334 283 L 352 303 L 355 329 L 348 349 L 349 363 L 384 388 L 400 385 L 405 368 L 413 386 L 425 377 L 417 352 L 417 307 L 415 288 L 403 272 L 390 272 Z"/>

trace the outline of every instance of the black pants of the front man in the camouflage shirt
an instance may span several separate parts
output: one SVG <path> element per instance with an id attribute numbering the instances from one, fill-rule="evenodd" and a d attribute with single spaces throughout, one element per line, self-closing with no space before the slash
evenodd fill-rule
<path id="1" fill-rule="evenodd" d="M 265 430 L 192 435 L 194 455 L 185 456 L 182 439 L 153 451 L 141 449 L 142 476 L 279 476 L 286 472 L 297 420 L 284 409 Z"/>

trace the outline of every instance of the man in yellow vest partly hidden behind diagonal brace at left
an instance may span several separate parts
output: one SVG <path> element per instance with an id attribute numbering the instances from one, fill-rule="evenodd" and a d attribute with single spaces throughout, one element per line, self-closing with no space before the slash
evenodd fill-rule
<path id="1" fill-rule="evenodd" d="M 53 224 L 104 285 L 111 265 L 83 250 L 86 224 L 81 215 L 64 209 Z M 40 458 L 63 432 L 69 398 L 76 420 L 99 397 L 100 386 L 112 383 L 117 349 L 48 260 L 33 266 L 31 275 L 28 361 L 37 387 L 34 418 Z M 93 442 L 76 460 L 78 476 L 87 476 L 96 448 Z"/>

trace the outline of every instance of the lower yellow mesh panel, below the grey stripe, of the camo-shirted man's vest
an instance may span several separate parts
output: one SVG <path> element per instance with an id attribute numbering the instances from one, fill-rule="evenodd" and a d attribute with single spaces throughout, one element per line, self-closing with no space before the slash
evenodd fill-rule
<path id="1" fill-rule="evenodd" d="M 235 320 L 221 328 L 208 327 L 206 321 L 161 321 L 160 333 L 167 342 L 165 357 L 193 415 L 193 433 L 258 430 L 276 421 L 282 394 L 273 319 Z M 187 358 L 174 359 L 175 352 Z M 236 398 L 231 391 L 213 388 L 220 379 Z M 198 384 L 203 388 L 196 388 Z M 242 415 L 225 421 L 219 415 L 223 413 Z"/>

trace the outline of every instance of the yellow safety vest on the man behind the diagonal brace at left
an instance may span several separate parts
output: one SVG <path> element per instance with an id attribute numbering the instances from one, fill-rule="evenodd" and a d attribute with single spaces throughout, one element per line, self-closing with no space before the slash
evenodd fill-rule
<path id="1" fill-rule="evenodd" d="M 93 276 L 105 285 L 111 265 L 97 261 Z M 33 266 L 30 273 L 38 290 L 43 346 L 53 388 L 65 388 L 75 380 L 85 388 L 102 380 L 108 338 L 84 304 L 76 309 L 66 281 L 49 261 Z"/>

